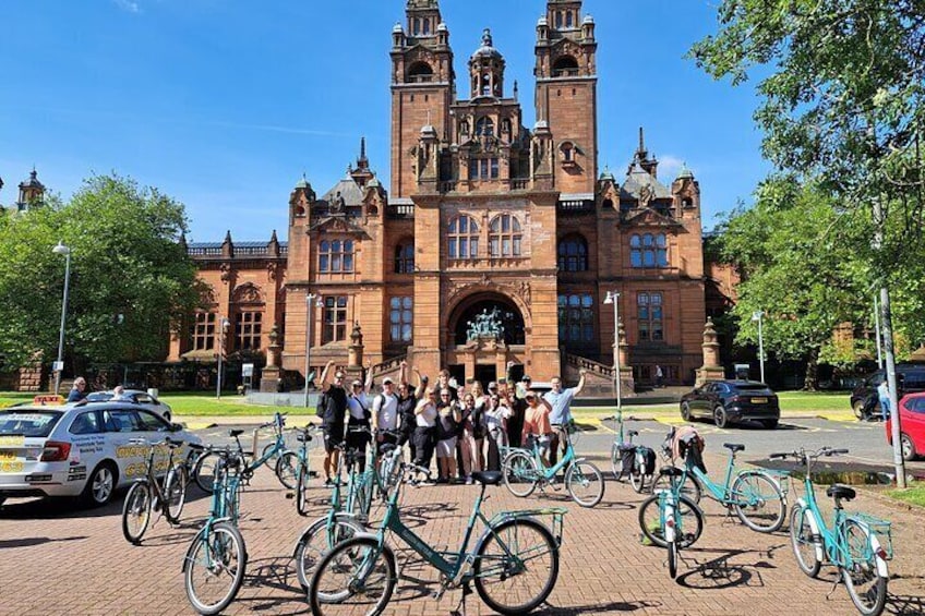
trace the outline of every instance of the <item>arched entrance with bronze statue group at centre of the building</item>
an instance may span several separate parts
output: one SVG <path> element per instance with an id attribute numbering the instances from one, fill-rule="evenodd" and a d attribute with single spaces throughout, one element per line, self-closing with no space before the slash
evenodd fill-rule
<path id="1" fill-rule="evenodd" d="M 446 325 L 446 367 L 460 383 L 476 379 L 484 387 L 505 376 L 508 361 L 524 361 L 524 314 L 501 293 L 483 291 L 466 298 Z"/>

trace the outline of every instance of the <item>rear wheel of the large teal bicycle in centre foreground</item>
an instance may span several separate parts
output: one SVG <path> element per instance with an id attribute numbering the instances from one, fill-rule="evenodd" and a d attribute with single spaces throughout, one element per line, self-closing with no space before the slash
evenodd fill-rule
<path id="1" fill-rule="evenodd" d="M 549 529 L 530 518 L 494 527 L 476 549 L 479 596 L 498 614 L 527 614 L 552 592 L 558 577 L 558 546 Z"/>

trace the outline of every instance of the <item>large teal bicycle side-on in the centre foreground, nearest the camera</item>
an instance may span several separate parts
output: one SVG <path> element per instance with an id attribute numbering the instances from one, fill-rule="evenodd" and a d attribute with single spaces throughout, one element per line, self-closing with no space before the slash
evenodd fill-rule
<path id="1" fill-rule="evenodd" d="M 498 485 L 500 472 L 476 472 L 481 485 L 463 543 L 456 552 L 434 549 L 401 521 L 400 486 L 409 476 L 430 475 L 427 469 L 401 464 L 403 481 L 392 492 L 385 519 L 375 534 L 349 539 L 328 552 L 312 576 L 309 603 L 315 616 L 333 614 L 382 614 L 398 579 L 395 553 L 386 544 L 394 533 L 441 573 L 435 599 L 463 587 L 463 601 L 474 583 L 482 601 L 498 614 L 528 614 L 552 592 L 558 577 L 564 508 L 503 512 L 491 520 L 481 511 L 485 487 Z M 536 519 L 551 516 L 553 530 Z M 476 521 L 484 531 L 470 549 Z"/>

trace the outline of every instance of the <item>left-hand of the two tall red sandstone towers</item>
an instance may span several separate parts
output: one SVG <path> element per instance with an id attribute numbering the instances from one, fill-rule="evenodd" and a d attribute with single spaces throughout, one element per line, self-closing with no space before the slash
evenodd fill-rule
<path id="1" fill-rule="evenodd" d="M 393 201 L 417 192 L 417 162 L 408 155 L 433 126 L 448 141 L 449 107 L 455 97 L 449 29 L 437 0 L 408 0 L 407 25 L 392 31 L 392 185 Z"/>

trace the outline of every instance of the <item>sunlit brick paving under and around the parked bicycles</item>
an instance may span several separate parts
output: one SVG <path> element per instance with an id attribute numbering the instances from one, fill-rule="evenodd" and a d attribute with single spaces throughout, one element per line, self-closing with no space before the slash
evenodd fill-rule
<path id="1" fill-rule="evenodd" d="M 718 472 L 721 458 L 708 458 Z M 606 464 L 599 461 L 603 469 Z M 610 473 L 606 473 L 608 475 Z M 409 488 L 405 517 L 424 538 L 445 544 L 459 540 L 476 486 Z M 208 500 L 191 487 L 194 500 L 184 523 L 171 529 L 161 519 L 140 547 L 122 538 L 122 494 L 99 510 L 62 510 L 60 504 L 12 502 L 0 510 L 0 613 L 2 614 L 191 614 L 180 571 L 187 545 L 206 514 Z M 855 614 L 844 588 L 831 590 L 832 571 L 821 580 L 803 576 L 793 559 L 786 528 L 773 535 L 754 533 L 726 519 L 704 499 L 707 526 L 700 541 L 682 552 L 678 582 L 664 565 L 665 551 L 639 542 L 636 506 L 642 498 L 626 484 L 609 481 L 601 505 L 581 509 L 560 493 L 526 500 L 506 488 L 489 488 L 486 512 L 564 505 L 562 570 L 540 614 Z M 328 498 L 313 491 L 314 514 Z M 887 517 L 896 527 L 897 558 L 890 563 L 887 611 L 925 613 L 925 528 L 921 514 L 885 505 L 864 493 L 852 508 Z M 229 614 L 307 614 L 291 559 L 293 543 L 309 519 L 271 472 L 261 470 L 242 497 L 241 529 L 247 542 L 244 587 Z M 441 602 L 432 569 L 398 552 L 401 579 L 388 614 L 449 614 L 460 593 Z M 829 580 L 829 581 L 824 581 Z M 468 614 L 489 614 L 477 594 Z"/>

